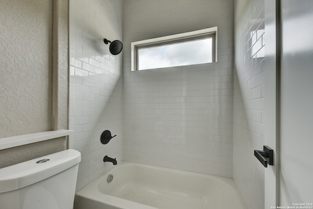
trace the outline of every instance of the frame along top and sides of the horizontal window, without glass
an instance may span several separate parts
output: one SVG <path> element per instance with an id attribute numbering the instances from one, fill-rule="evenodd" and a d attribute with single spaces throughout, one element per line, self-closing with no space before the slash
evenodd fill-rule
<path id="1" fill-rule="evenodd" d="M 217 27 L 210 27 L 187 33 L 132 42 L 132 71 L 138 70 L 138 49 L 201 40 L 205 38 L 212 38 L 212 62 L 217 62 Z"/>

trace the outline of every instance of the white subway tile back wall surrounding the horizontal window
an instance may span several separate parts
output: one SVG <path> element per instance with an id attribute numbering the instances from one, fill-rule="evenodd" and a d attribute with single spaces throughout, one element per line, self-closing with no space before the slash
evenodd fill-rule
<path id="1" fill-rule="evenodd" d="M 232 177 L 233 0 L 124 0 L 123 160 Z M 131 42 L 218 26 L 218 62 L 131 71 Z"/>

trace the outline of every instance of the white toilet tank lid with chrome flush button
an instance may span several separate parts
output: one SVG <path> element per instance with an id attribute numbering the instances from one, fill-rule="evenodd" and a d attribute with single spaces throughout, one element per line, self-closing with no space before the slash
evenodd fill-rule
<path id="1" fill-rule="evenodd" d="M 1 168 L 0 193 L 32 185 L 65 171 L 78 164 L 80 161 L 81 154 L 79 151 L 67 149 L 51 155 Z M 75 176 L 73 178 L 77 177 Z"/>

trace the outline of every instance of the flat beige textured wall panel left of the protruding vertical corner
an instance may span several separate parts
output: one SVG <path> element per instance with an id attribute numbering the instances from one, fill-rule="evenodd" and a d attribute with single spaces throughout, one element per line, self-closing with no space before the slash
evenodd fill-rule
<path id="1" fill-rule="evenodd" d="M 0 1 L 0 138 L 51 129 L 52 1 Z"/>

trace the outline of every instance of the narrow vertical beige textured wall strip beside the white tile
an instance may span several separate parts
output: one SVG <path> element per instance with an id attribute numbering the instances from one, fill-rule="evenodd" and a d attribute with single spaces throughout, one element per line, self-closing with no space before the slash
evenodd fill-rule
<path id="1" fill-rule="evenodd" d="M 53 1 L 52 130 L 68 129 L 68 0 Z"/>

